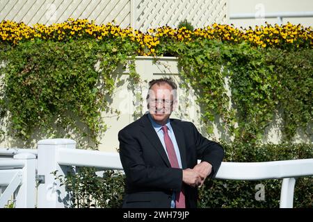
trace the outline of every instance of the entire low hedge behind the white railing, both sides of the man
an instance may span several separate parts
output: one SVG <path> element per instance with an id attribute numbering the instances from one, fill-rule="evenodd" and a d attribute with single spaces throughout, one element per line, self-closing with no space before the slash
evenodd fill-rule
<path id="1" fill-rule="evenodd" d="M 313 158 L 312 144 L 223 144 L 225 162 L 264 162 Z M 59 178 L 72 194 L 71 207 L 121 207 L 125 176 L 120 171 L 81 168 L 76 175 Z M 207 180 L 199 189 L 198 207 L 279 207 L 282 180 Z M 294 207 L 313 206 L 313 178 L 298 178 Z M 257 185 L 264 186 L 264 200 L 256 200 Z"/>

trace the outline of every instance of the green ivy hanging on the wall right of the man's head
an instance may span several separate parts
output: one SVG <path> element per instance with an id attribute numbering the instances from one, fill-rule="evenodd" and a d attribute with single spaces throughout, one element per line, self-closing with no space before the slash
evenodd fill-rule
<path id="1" fill-rule="evenodd" d="M 218 114 L 236 141 L 260 142 L 274 115 L 282 112 L 282 141 L 292 140 L 300 127 L 312 135 L 312 49 L 261 49 L 216 40 L 166 44 L 166 49 L 179 58 L 184 86 L 195 89 L 209 134 Z"/>

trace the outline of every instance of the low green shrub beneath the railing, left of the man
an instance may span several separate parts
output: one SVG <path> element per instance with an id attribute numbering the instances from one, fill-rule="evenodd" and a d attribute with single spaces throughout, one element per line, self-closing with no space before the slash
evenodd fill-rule
<path id="1" fill-rule="evenodd" d="M 93 167 L 77 169 L 77 173 L 68 173 L 65 178 L 54 172 L 56 179 L 65 185 L 70 194 L 68 207 L 122 207 L 125 186 L 125 175 L 122 172 L 106 170 L 102 176 L 97 176 Z"/>

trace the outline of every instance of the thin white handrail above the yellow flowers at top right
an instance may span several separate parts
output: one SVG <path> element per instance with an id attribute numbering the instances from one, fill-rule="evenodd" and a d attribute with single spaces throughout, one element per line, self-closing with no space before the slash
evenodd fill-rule
<path id="1" fill-rule="evenodd" d="M 294 17 L 313 17 L 313 12 L 268 12 L 264 15 L 256 15 L 255 13 L 238 13 L 230 15 L 230 19 L 265 19 L 277 18 L 278 24 L 282 24 L 282 18 Z"/>

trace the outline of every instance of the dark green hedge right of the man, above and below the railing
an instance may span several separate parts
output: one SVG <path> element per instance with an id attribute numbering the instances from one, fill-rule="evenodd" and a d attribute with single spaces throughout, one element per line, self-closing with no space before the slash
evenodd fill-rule
<path id="1" fill-rule="evenodd" d="M 312 144 L 223 144 L 225 162 L 266 162 L 313 158 Z M 264 185 L 265 200 L 256 200 Z M 313 178 L 298 178 L 294 207 L 313 207 Z M 279 207 L 282 180 L 207 180 L 200 188 L 199 207 Z"/>

